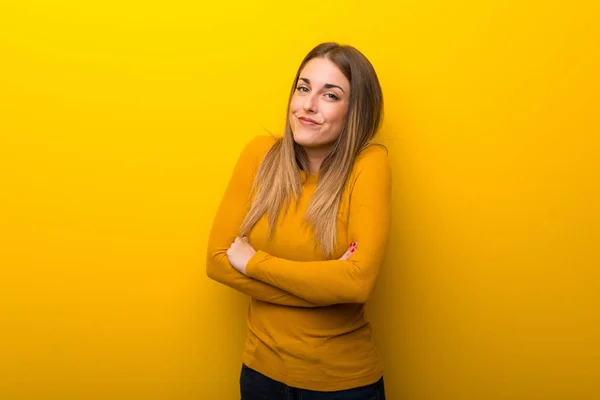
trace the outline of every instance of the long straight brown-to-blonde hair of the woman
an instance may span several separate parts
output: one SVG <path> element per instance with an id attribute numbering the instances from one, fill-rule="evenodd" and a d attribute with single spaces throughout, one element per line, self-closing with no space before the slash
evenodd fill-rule
<path id="1" fill-rule="evenodd" d="M 309 161 L 304 148 L 294 141 L 290 102 L 300 72 L 306 63 L 317 57 L 333 62 L 350 82 L 346 123 L 321 164 L 317 189 L 305 215 L 314 232 L 315 246 L 320 246 L 327 258 L 333 258 L 337 213 L 344 187 L 356 156 L 370 144 L 383 116 L 383 96 L 377 74 L 369 60 L 352 46 L 322 43 L 312 49 L 300 64 L 288 100 L 284 135 L 273 144 L 258 169 L 252 186 L 250 209 L 239 235 L 247 235 L 266 213 L 270 236 L 282 207 L 285 214 L 291 200 L 297 201 L 302 193 L 300 170 L 309 171 Z"/>

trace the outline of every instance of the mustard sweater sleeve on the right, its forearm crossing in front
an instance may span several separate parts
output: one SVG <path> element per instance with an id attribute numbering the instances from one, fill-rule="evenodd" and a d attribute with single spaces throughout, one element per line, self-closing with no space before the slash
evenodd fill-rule
<path id="1" fill-rule="evenodd" d="M 391 173 L 387 154 L 378 147 L 355 169 L 348 236 L 358 242 L 358 248 L 349 260 L 290 261 L 258 251 L 248 262 L 246 274 L 320 305 L 365 303 L 387 248 Z"/>

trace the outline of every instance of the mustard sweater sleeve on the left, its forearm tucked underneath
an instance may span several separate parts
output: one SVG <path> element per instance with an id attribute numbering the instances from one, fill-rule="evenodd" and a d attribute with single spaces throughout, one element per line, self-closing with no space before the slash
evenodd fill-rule
<path id="1" fill-rule="evenodd" d="M 248 212 L 254 176 L 272 144 L 271 137 L 257 136 L 242 151 L 210 231 L 206 274 L 209 278 L 257 300 L 285 306 L 317 307 L 317 304 L 238 272 L 227 259 L 227 250 L 238 236 L 238 229 Z"/>

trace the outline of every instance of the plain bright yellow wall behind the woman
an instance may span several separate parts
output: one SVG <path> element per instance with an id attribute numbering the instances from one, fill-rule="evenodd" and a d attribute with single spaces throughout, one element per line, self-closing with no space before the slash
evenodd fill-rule
<path id="1" fill-rule="evenodd" d="M 598 2 L 94 3 L 0 3 L 2 400 L 238 398 L 208 229 L 325 40 L 386 99 L 389 398 L 600 398 Z"/>

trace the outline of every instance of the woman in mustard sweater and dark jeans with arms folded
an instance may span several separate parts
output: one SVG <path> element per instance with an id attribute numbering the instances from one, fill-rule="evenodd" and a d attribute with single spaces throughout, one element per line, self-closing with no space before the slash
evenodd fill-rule
<path id="1" fill-rule="evenodd" d="M 208 243 L 210 278 L 248 294 L 243 400 L 384 399 L 364 305 L 384 259 L 390 168 L 371 63 L 323 43 L 294 79 L 282 138 L 243 150 Z"/>

